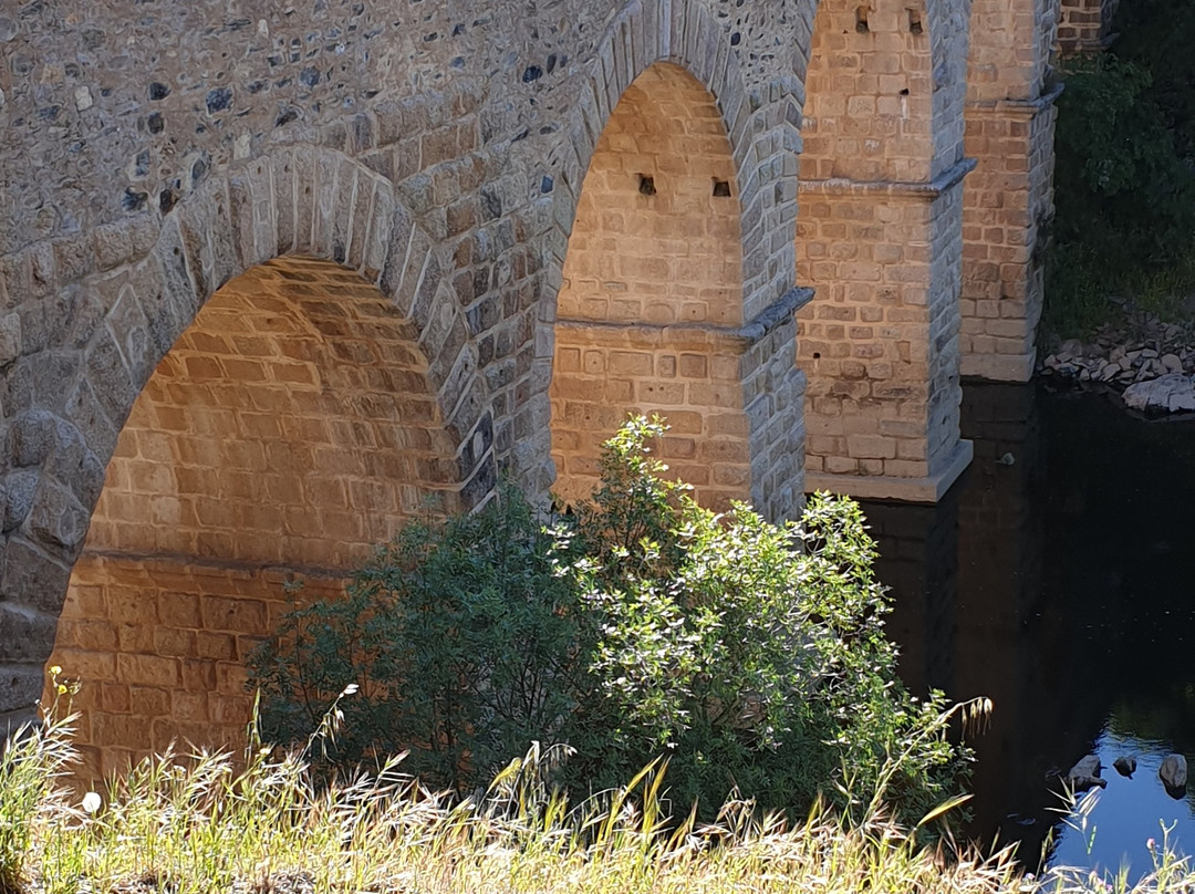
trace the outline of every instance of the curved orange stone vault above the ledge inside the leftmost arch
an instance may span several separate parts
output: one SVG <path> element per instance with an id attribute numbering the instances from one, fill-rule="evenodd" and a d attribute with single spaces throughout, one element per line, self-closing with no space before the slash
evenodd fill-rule
<path id="1" fill-rule="evenodd" d="M 428 363 L 376 287 L 327 262 L 238 276 L 121 430 L 91 550 L 349 568 L 460 470 Z"/>

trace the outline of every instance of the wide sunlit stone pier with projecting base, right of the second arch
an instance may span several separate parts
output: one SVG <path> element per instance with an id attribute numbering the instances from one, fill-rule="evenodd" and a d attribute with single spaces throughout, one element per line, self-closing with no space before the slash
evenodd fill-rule
<path id="1" fill-rule="evenodd" d="M 805 74 L 797 275 L 807 485 L 934 501 L 960 441 L 964 5 L 821 0 Z"/>

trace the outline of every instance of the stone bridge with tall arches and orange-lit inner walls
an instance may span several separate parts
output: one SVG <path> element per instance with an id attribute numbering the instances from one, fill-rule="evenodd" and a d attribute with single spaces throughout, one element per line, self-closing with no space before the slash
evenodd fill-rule
<path id="1" fill-rule="evenodd" d="M 632 410 L 716 507 L 937 500 L 960 375 L 1032 371 L 1050 55 L 1105 20 L 4 6 L 0 723 L 53 651 L 90 771 L 232 741 L 286 581 L 502 473 L 578 496 Z"/>

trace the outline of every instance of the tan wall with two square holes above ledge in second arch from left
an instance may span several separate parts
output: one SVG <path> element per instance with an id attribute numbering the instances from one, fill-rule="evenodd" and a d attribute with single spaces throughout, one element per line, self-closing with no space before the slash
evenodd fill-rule
<path id="1" fill-rule="evenodd" d="M 649 68 L 589 161 L 558 318 L 742 323 L 737 191 L 713 97 L 682 68 Z"/>

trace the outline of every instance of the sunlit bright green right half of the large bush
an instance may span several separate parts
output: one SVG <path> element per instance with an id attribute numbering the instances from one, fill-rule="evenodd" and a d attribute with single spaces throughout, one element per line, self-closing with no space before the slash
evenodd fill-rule
<path id="1" fill-rule="evenodd" d="M 884 782 L 909 815 L 949 795 L 963 754 L 931 731 L 940 700 L 896 681 L 858 506 L 816 496 L 785 527 L 742 504 L 716 515 L 664 479 L 649 449 L 662 434 L 641 418 L 607 442 L 602 486 L 571 528 L 581 558 L 566 575 L 600 624 L 600 697 L 569 740 L 575 783 L 613 785 L 666 754 L 682 804 L 737 788 L 804 809 L 819 792 L 845 806 L 844 773 L 875 791 L 899 755 Z"/>

